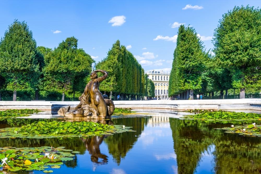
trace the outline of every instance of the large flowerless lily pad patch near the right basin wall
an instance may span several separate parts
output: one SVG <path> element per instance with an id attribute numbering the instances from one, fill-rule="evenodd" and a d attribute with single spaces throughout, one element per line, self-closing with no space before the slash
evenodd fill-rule
<path id="1" fill-rule="evenodd" d="M 211 111 L 196 115 L 187 115 L 183 118 L 206 119 L 206 120 L 261 120 L 261 114 L 229 111 Z"/>

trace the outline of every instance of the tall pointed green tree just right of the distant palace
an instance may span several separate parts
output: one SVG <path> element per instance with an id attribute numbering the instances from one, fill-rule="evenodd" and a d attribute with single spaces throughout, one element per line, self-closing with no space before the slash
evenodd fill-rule
<path id="1" fill-rule="evenodd" d="M 174 51 L 173 69 L 170 74 L 170 94 L 184 92 L 186 99 L 193 99 L 193 90 L 201 88 L 201 73 L 205 69 L 207 54 L 192 27 L 179 27 Z"/>

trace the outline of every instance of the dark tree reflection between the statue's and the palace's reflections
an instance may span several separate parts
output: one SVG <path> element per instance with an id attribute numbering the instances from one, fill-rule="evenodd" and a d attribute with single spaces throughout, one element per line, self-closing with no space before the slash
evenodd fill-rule
<path id="1" fill-rule="evenodd" d="M 113 119 L 115 125 L 126 125 L 133 127 L 132 130 L 136 132 L 123 132 L 120 134 L 113 134 L 108 136 L 104 141 L 108 145 L 109 153 L 119 165 L 121 159 L 126 157 L 127 152 L 132 149 L 133 145 L 138 139 L 138 136 L 144 130 L 144 125 L 147 124 L 147 118 L 117 118 Z"/>

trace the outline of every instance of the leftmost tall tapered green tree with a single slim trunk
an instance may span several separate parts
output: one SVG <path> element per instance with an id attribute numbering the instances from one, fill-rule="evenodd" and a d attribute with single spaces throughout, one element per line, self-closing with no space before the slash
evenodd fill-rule
<path id="1" fill-rule="evenodd" d="M 36 41 L 26 22 L 15 20 L 5 31 L 0 41 L 0 71 L 6 81 L 6 89 L 13 91 L 34 91 L 40 74 L 36 57 Z"/>

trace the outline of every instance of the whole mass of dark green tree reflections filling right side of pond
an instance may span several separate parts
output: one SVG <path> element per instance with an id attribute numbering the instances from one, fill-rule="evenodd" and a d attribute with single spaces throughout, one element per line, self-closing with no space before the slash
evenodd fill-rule
<path id="1" fill-rule="evenodd" d="M 212 144 L 216 173 L 261 172 L 261 138 L 213 129 L 229 125 L 170 118 L 178 173 L 194 173 L 201 154 Z"/>

